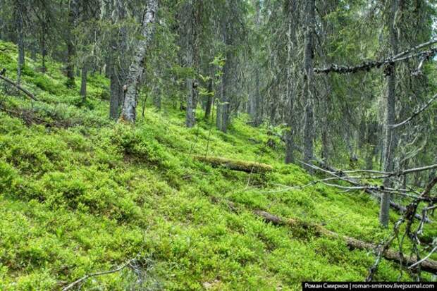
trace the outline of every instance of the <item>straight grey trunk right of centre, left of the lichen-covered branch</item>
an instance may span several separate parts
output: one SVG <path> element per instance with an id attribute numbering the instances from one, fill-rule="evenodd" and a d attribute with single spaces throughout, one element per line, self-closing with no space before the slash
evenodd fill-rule
<path id="1" fill-rule="evenodd" d="M 304 161 L 311 163 L 314 155 L 314 20 L 315 0 L 307 0 L 305 20 L 305 48 L 304 48 Z M 308 168 L 310 172 L 312 169 Z"/>

